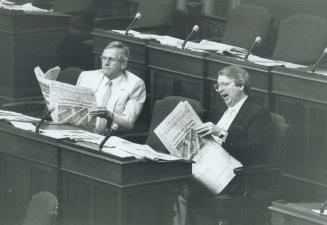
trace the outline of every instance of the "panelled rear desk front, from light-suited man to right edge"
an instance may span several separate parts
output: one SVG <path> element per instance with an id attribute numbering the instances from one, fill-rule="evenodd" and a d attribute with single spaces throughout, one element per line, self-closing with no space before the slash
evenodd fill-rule
<path id="1" fill-rule="evenodd" d="M 135 42 L 113 32 L 103 32 L 102 38 L 111 39 L 112 36 L 128 44 Z M 153 41 L 144 42 L 142 49 L 137 52 L 145 52 L 143 66 L 150 72 L 151 82 L 146 85 L 150 88 L 152 103 L 168 95 L 181 95 L 201 101 L 210 112 L 217 102 L 224 105 L 212 88 L 217 72 L 231 64 L 246 68 L 251 76 L 250 94 L 272 112 L 284 116 L 291 126 L 283 194 L 298 201 L 321 199 L 327 195 L 326 76 L 256 65 L 235 58 L 163 46 Z"/>

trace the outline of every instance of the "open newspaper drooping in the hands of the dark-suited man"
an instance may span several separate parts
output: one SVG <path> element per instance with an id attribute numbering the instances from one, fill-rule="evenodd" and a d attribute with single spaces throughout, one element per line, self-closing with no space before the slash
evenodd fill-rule
<path id="1" fill-rule="evenodd" d="M 212 136 L 201 138 L 194 130 L 201 119 L 187 102 L 180 102 L 154 130 L 168 151 L 177 157 L 192 159 L 196 180 L 218 194 L 233 179 L 233 170 L 242 164 L 224 150 Z"/>

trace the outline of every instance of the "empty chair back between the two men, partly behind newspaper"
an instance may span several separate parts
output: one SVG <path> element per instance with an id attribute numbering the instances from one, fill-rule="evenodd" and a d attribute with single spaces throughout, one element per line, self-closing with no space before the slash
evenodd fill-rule
<path id="1" fill-rule="evenodd" d="M 205 110 L 202 104 L 194 99 L 180 96 L 168 96 L 164 99 L 157 100 L 153 107 L 152 118 L 150 122 L 149 136 L 146 140 L 146 144 L 151 146 L 153 149 L 159 152 L 168 152 L 166 147 L 159 140 L 157 135 L 154 133 L 154 129 L 169 115 L 171 111 L 180 101 L 187 100 L 193 107 L 194 111 L 199 115 L 201 119 L 204 117 Z"/>

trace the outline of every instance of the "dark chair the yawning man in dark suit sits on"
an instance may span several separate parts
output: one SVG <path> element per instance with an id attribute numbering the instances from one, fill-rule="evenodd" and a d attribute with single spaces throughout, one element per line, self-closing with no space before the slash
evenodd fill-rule
<path id="1" fill-rule="evenodd" d="M 271 113 L 271 116 L 274 137 L 270 162 L 234 170 L 236 176 L 245 183 L 241 193 L 191 199 L 192 224 L 268 224 L 267 207 L 272 200 L 279 198 L 279 179 L 287 150 L 289 128 L 282 116 L 275 113 Z"/>

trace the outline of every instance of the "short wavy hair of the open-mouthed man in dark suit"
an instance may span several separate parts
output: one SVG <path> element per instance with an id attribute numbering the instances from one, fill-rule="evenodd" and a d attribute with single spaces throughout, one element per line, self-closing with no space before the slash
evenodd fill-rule
<path id="1" fill-rule="evenodd" d="M 236 86 L 244 85 L 244 92 L 248 94 L 250 90 L 250 75 L 244 68 L 237 65 L 226 66 L 218 71 L 218 76 L 233 79 Z"/>

